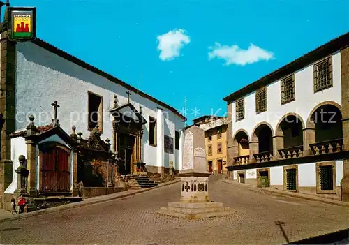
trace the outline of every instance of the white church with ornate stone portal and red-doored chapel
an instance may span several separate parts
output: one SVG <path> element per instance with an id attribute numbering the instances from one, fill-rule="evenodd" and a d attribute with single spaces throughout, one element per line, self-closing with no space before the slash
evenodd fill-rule
<path id="1" fill-rule="evenodd" d="M 117 159 L 121 175 L 181 168 L 186 118 L 174 107 L 39 38 L 13 42 L 3 29 L 0 39 L 1 203 L 18 188 L 75 195 L 91 180 L 82 154 L 95 172 L 100 156 Z"/>

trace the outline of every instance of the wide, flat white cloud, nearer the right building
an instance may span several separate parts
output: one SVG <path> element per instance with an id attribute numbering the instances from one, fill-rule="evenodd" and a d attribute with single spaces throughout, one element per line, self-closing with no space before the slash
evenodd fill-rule
<path id="1" fill-rule="evenodd" d="M 209 52 L 209 60 L 218 58 L 224 59 L 225 65 L 229 66 L 232 64 L 245 66 L 246 64 L 253 64 L 257 61 L 274 59 L 274 54 L 267 50 L 253 45 L 250 43 L 250 46 L 247 50 L 243 50 L 238 45 L 221 45 L 221 43 L 215 43 L 214 47 L 209 47 L 212 51 Z"/>

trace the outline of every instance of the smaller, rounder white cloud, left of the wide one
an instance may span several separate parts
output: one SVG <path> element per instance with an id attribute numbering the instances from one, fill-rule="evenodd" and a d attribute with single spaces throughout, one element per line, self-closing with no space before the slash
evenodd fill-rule
<path id="1" fill-rule="evenodd" d="M 191 42 L 191 38 L 186 35 L 183 29 L 173 29 L 166 34 L 158 36 L 159 58 L 162 61 L 170 61 L 174 57 L 179 57 L 179 51 L 184 45 Z"/>

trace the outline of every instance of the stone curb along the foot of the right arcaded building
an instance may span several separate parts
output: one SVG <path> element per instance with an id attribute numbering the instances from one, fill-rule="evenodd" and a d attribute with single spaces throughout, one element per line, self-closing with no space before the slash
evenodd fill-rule
<path id="1" fill-rule="evenodd" d="M 223 183 L 227 183 L 227 184 L 236 184 L 236 185 L 239 185 L 239 186 L 244 186 L 246 188 L 250 188 L 253 191 L 259 191 L 260 193 L 265 191 L 265 192 L 270 193 L 272 195 L 279 195 L 279 196 L 283 196 L 283 197 L 299 198 L 299 199 L 304 199 L 304 200 L 324 202 L 326 204 L 331 204 L 331 205 L 336 205 L 336 206 L 349 207 L 349 203 L 348 202 L 342 202 L 342 201 L 339 201 L 339 200 L 325 199 L 325 198 L 320 198 L 320 197 L 317 197 L 317 196 L 307 195 L 307 194 L 304 194 L 304 193 L 290 193 L 288 191 L 274 190 L 272 188 L 257 188 L 257 187 L 254 187 L 254 186 L 251 186 L 251 185 L 248 185 L 248 184 L 237 183 L 237 182 L 231 181 L 229 179 L 221 179 L 221 181 Z"/>

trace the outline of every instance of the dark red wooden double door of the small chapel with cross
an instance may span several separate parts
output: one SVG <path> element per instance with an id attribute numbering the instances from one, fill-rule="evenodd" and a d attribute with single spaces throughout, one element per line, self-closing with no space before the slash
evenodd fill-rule
<path id="1" fill-rule="evenodd" d="M 68 151 L 60 147 L 53 147 L 43 151 L 41 181 L 41 190 L 43 192 L 70 190 L 69 156 Z"/>

